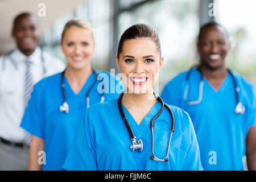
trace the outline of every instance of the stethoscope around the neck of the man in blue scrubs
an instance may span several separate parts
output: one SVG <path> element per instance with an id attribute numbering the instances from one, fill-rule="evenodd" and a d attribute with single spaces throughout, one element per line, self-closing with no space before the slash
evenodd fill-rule
<path id="1" fill-rule="evenodd" d="M 185 91 L 184 91 L 184 96 L 183 96 L 183 100 L 185 100 L 185 101 L 187 101 L 188 87 L 189 87 L 188 81 L 189 81 L 189 76 L 192 72 L 192 69 L 197 69 L 200 72 L 200 70 L 197 67 L 192 67 L 188 71 L 187 77 L 186 77 L 186 86 L 185 86 Z M 239 97 L 238 97 L 238 92 L 240 92 L 240 88 L 237 86 L 237 81 L 234 78 L 232 71 L 230 71 L 230 69 L 227 69 L 227 70 L 230 73 L 230 76 L 232 77 L 232 80 L 233 80 L 234 86 L 235 86 L 236 101 L 237 101 L 237 106 L 236 106 L 235 112 L 238 114 L 243 114 L 243 113 L 245 113 L 245 107 L 242 105 L 242 102 L 240 102 Z M 199 97 L 197 98 L 196 101 L 187 101 L 188 105 L 197 105 L 202 101 L 204 81 L 203 81 L 203 75 L 201 72 L 200 72 L 200 75 L 201 75 L 201 77 L 200 77 L 200 84 L 199 84 Z"/>

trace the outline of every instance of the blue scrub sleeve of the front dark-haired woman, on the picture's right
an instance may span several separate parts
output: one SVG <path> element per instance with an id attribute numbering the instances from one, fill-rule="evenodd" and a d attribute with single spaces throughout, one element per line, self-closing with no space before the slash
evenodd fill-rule
<path id="1" fill-rule="evenodd" d="M 189 117 L 189 128 L 191 131 L 191 145 L 188 148 L 185 162 L 183 164 L 184 171 L 202 171 L 203 166 L 200 160 L 199 144 L 197 143 L 195 129 L 192 125 L 191 118 Z"/>

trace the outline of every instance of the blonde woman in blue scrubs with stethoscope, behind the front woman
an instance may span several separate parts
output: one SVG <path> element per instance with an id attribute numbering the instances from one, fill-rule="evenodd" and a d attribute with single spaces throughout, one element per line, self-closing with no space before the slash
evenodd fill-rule
<path id="1" fill-rule="evenodd" d="M 117 84 L 114 75 L 90 66 L 94 39 L 88 22 L 74 19 L 65 24 L 60 46 L 65 71 L 34 86 L 20 125 L 31 134 L 29 170 L 61 170 L 86 108 L 120 94 L 110 93 Z"/>

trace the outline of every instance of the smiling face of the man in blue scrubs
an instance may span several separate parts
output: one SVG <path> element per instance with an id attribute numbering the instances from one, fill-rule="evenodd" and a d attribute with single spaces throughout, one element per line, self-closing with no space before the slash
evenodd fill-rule
<path id="1" fill-rule="evenodd" d="M 224 28 L 212 25 L 202 30 L 197 44 L 201 65 L 211 70 L 225 67 L 229 49 L 230 42 Z"/>

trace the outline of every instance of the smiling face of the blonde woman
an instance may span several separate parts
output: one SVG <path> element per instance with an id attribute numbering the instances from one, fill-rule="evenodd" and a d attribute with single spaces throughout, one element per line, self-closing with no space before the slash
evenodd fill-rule
<path id="1" fill-rule="evenodd" d="M 67 67 L 84 69 L 90 66 L 94 53 L 92 33 L 85 28 L 69 27 L 61 41 L 61 49 L 65 54 Z"/>

